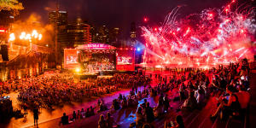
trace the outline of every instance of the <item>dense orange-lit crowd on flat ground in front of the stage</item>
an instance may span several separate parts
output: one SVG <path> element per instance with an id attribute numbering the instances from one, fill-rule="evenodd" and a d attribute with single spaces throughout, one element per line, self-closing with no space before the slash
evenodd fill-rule
<path id="1" fill-rule="evenodd" d="M 19 92 L 22 108 L 52 108 L 68 102 L 82 102 L 84 97 L 102 96 L 137 84 L 146 84 L 150 79 L 138 73 L 116 73 L 112 78 L 74 81 L 70 73 L 49 73 L 38 77 L 3 82 L 2 90 Z"/>

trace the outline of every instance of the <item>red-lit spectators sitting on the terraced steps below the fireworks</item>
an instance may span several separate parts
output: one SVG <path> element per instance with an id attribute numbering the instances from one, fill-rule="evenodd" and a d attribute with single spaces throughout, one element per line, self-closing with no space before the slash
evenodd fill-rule
<path id="1" fill-rule="evenodd" d="M 148 86 L 143 92 L 131 90 L 129 96 L 120 95 L 118 99 L 113 100 L 112 108 L 117 110 L 137 106 L 136 123 L 132 123 L 130 127 L 151 127 L 150 123 L 154 119 L 168 113 L 170 108 L 170 99 L 167 96 L 167 92 L 170 91 L 168 90 L 177 89 L 179 102 L 183 102 L 177 111 L 191 112 L 195 109 L 201 109 L 209 97 L 216 97 L 219 103 L 216 112 L 212 113 L 211 119 L 215 119 L 218 114 L 220 114 L 220 119 L 243 116 L 250 101 L 249 74 L 248 62 L 245 59 L 240 63 L 230 63 L 226 67 L 219 66 L 209 70 L 176 71 L 168 82 L 166 78 L 156 75 L 160 84 L 154 87 Z M 148 96 L 159 96 L 156 107 L 150 107 L 146 99 Z M 143 98 L 143 104 L 137 105 L 137 102 Z M 129 100 L 135 103 L 129 105 Z M 100 124 L 99 127 L 105 128 Z M 166 121 L 165 127 L 185 127 L 182 116 L 177 115 L 175 120 Z"/>

